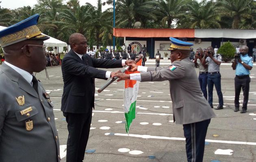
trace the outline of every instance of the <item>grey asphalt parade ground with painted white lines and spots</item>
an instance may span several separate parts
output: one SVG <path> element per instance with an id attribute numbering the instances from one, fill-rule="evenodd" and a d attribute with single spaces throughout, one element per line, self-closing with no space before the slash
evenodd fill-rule
<path id="1" fill-rule="evenodd" d="M 160 62 L 160 66 L 167 64 L 170 64 L 169 60 Z M 154 66 L 154 60 L 149 60 L 145 66 Z M 122 68 L 108 70 L 119 69 Z M 61 66 L 47 67 L 47 72 L 50 79 L 46 78 L 45 70 L 37 73 L 36 77 L 49 92 L 54 104 L 60 156 L 65 162 L 68 131 L 61 111 Z M 196 72 L 198 75 L 198 69 Z M 231 64 L 221 65 L 224 109 L 213 110 L 217 117 L 211 119 L 208 127 L 204 162 L 256 162 L 256 67 L 251 70 L 248 108 L 243 114 L 234 112 L 234 72 Z M 129 136 L 124 119 L 124 81 L 115 81 L 98 93 L 98 88 L 104 83 L 105 80 L 95 79 L 95 109 L 84 162 L 187 161 L 183 127 L 173 123 L 169 81 L 140 83 L 136 118 L 130 126 Z M 242 91 L 240 100 L 243 104 Z M 215 87 L 213 106 L 218 106 Z"/>

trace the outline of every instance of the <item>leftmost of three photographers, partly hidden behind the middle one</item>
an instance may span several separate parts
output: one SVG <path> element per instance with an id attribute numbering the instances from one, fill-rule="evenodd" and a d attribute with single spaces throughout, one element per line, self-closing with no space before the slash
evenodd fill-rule
<path id="1" fill-rule="evenodd" d="M 208 75 L 208 64 L 202 65 L 202 58 L 204 57 L 204 51 L 200 48 L 195 53 L 195 66 L 199 68 L 198 80 L 200 83 L 201 90 L 204 94 L 204 98 L 207 100 L 207 75 Z"/>

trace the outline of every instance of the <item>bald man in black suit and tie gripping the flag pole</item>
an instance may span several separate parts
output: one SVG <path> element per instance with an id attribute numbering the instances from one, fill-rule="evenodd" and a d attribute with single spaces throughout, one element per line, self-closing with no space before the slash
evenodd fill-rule
<path id="1" fill-rule="evenodd" d="M 134 61 L 102 60 L 83 55 L 87 50 L 87 40 L 80 33 L 71 34 L 69 44 L 71 50 L 65 55 L 61 65 L 64 82 L 61 111 L 66 117 L 69 131 L 67 162 L 82 162 L 94 108 L 94 79 L 107 79 L 113 73 L 97 68 L 121 68 Z"/>

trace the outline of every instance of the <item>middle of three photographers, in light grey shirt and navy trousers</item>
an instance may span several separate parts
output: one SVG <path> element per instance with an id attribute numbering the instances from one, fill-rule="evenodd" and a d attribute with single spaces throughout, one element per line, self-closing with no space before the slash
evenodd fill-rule
<path id="1" fill-rule="evenodd" d="M 217 91 L 219 98 L 219 105 L 215 110 L 223 109 L 223 96 L 221 92 L 221 74 L 219 73 L 219 67 L 221 64 L 221 55 L 217 55 L 213 51 L 213 47 L 208 47 L 206 50 L 206 55 L 202 59 L 202 65 L 204 66 L 208 62 L 208 103 L 213 108 L 213 85 Z"/>

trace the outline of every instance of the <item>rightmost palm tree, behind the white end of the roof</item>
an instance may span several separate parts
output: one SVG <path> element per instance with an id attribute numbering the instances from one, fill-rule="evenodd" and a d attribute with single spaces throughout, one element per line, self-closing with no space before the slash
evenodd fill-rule
<path id="1" fill-rule="evenodd" d="M 242 19 L 253 19 L 251 7 L 253 0 L 217 0 L 221 12 L 233 19 L 232 28 L 238 29 Z"/>

